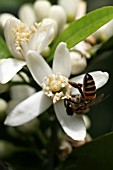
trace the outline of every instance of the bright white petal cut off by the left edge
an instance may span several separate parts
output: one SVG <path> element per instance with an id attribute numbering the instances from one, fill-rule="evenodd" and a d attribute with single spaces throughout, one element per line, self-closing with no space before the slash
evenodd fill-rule
<path id="1" fill-rule="evenodd" d="M 26 64 L 25 61 L 14 58 L 0 60 L 0 83 L 5 84 L 10 81 L 15 74 Z"/>

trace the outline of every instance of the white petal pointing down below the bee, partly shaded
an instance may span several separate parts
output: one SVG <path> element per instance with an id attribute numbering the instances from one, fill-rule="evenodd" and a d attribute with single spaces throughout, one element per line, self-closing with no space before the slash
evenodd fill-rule
<path id="1" fill-rule="evenodd" d="M 64 101 L 54 104 L 56 116 L 68 136 L 74 140 L 84 140 L 86 128 L 81 115 L 68 116 L 64 107 Z"/>

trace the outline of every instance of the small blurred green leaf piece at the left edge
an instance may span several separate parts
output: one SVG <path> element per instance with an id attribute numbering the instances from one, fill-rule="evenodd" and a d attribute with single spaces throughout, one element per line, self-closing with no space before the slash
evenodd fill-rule
<path id="1" fill-rule="evenodd" d="M 11 57 L 11 54 L 7 48 L 7 45 L 3 38 L 0 36 L 0 59 Z"/>

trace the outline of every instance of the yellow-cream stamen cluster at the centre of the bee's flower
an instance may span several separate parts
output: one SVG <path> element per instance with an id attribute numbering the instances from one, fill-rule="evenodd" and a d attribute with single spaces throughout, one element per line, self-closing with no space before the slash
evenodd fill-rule
<path id="1" fill-rule="evenodd" d="M 62 76 L 60 73 L 50 74 L 44 78 L 42 89 L 48 97 L 53 99 L 53 103 L 56 103 L 60 99 L 68 98 L 68 94 L 71 91 L 68 81 L 68 78 Z"/>

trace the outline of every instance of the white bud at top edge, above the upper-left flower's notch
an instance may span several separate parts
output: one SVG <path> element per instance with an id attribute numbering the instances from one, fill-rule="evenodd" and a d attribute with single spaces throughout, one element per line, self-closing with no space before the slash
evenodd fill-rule
<path id="1" fill-rule="evenodd" d="M 34 10 L 37 17 L 37 22 L 41 21 L 43 18 L 48 17 L 48 13 L 50 11 L 51 4 L 49 1 L 37 0 L 34 3 Z"/>

